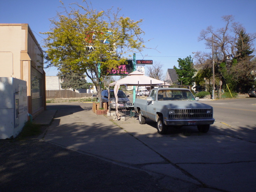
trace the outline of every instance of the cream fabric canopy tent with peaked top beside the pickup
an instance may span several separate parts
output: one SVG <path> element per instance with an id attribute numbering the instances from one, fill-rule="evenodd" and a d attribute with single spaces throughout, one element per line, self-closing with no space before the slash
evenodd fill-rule
<path id="1" fill-rule="evenodd" d="M 165 84 L 164 81 L 160 81 L 158 79 L 154 79 L 151 77 L 146 76 L 144 73 L 139 71 L 133 71 L 132 73 L 128 74 L 125 78 L 122 78 L 118 81 L 110 83 L 109 86 L 114 86 L 114 94 L 116 98 L 116 104 L 118 103 L 117 92 L 120 85 L 129 85 L 129 86 L 151 86 L 151 85 L 160 85 Z M 134 95 L 135 96 L 135 95 Z M 135 98 L 134 98 L 135 99 Z M 116 105 L 116 112 L 118 111 L 118 106 Z"/>

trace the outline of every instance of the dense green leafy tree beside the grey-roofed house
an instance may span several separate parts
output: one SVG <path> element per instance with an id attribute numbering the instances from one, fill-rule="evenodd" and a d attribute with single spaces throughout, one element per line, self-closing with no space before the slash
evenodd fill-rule
<path id="1" fill-rule="evenodd" d="M 194 82 L 194 72 L 196 71 L 194 69 L 193 65 L 193 59 L 191 58 L 191 55 L 188 57 L 181 59 L 178 58 L 179 66 L 173 67 L 176 70 L 176 73 L 178 75 L 178 81 L 184 85 L 192 85 Z"/>

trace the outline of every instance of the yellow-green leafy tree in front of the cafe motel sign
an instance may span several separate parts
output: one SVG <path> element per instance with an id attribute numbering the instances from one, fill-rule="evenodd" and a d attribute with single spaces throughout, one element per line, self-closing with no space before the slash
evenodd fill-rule
<path id="1" fill-rule="evenodd" d="M 101 103 L 101 71 L 116 68 L 129 53 L 145 48 L 139 27 L 142 20 L 118 16 L 120 9 L 97 11 L 83 3 L 85 6 L 71 4 L 76 8 L 70 7 L 70 11 L 62 3 L 64 12 L 50 19 L 52 27 L 44 33 L 48 36 L 44 39 L 45 63 L 61 73 L 86 73 Z"/>

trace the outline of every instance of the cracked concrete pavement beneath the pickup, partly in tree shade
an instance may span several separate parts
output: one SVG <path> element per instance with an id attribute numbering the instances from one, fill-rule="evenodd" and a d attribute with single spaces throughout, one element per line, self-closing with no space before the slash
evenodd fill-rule
<path id="1" fill-rule="evenodd" d="M 170 190 L 175 180 L 186 186 L 183 191 L 256 190 L 256 144 L 221 134 L 230 125 L 216 119 L 206 134 L 196 127 L 182 127 L 159 135 L 152 121 L 144 125 L 137 118 L 112 122 L 112 117 L 95 115 L 90 107 L 49 105 L 48 109 L 59 110 L 44 141 L 161 175 L 161 182 Z"/>

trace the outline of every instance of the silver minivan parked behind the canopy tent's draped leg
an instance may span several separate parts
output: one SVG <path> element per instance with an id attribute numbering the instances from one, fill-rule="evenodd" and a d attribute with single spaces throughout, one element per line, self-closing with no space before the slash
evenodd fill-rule
<path id="1" fill-rule="evenodd" d="M 116 103 L 115 103 L 115 95 L 114 95 L 114 90 L 111 89 L 109 90 L 110 92 L 110 104 L 109 108 L 110 109 L 115 109 Z M 128 99 L 129 95 L 126 96 L 125 93 L 121 90 L 118 90 L 117 93 L 118 97 L 118 108 L 129 108 L 130 106 L 130 100 Z M 107 103 L 108 102 L 108 90 L 103 90 L 101 92 L 101 101 Z"/>

